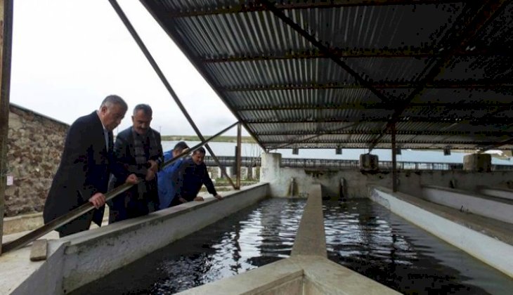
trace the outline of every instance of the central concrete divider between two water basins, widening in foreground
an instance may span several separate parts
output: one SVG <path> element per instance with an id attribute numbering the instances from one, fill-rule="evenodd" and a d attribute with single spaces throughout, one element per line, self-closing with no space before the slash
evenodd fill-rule
<path id="1" fill-rule="evenodd" d="M 180 294 L 398 294 L 326 258 L 321 195 L 321 185 L 312 185 L 290 258 Z"/>

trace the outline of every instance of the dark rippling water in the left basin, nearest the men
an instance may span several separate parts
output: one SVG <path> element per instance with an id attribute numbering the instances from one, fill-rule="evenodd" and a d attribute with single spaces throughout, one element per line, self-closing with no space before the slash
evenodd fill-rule
<path id="1" fill-rule="evenodd" d="M 304 204 L 266 199 L 72 294 L 174 294 L 286 258 Z"/>

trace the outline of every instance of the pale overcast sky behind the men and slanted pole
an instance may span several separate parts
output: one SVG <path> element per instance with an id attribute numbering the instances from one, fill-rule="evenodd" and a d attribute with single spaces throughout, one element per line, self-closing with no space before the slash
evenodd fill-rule
<path id="1" fill-rule="evenodd" d="M 143 5 L 119 5 L 200 131 L 212 135 L 233 124 L 233 114 Z M 14 1 L 11 67 L 11 103 L 67 124 L 117 94 L 130 110 L 151 105 L 152 127 L 162 134 L 195 134 L 108 1 Z M 119 131 L 130 125 L 127 113 Z"/>

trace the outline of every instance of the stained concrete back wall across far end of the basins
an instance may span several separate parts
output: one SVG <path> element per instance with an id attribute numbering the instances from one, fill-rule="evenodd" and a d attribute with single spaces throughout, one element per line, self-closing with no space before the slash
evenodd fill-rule
<path id="1" fill-rule="evenodd" d="M 312 185 L 323 186 L 323 197 L 336 199 L 340 196 L 339 183 L 345 180 L 344 197 L 359 198 L 367 195 L 369 185 L 392 187 L 392 173 L 379 171 L 363 173 L 358 169 L 304 169 L 280 167 L 280 154 L 262 155 L 261 181 L 271 185 L 273 197 L 308 197 Z M 294 179 L 291 192 L 290 183 Z M 408 195 L 422 195 L 423 185 L 440 185 L 474 191 L 481 185 L 507 188 L 513 181 L 513 171 L 488 173 L 470 171 L 398 171 L 398 190 Z"/>

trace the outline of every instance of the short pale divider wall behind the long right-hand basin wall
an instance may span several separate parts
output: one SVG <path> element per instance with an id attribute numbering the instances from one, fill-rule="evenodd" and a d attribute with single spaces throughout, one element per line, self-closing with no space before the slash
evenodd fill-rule
<path id="1" fill-rule="evenodd" d="M 422 190 L 422 198 L 429 202 L 513 223 L 513 200 L 474 195 L 472 192 L 442 188 L 436 185 L 424 186 Z"/>

